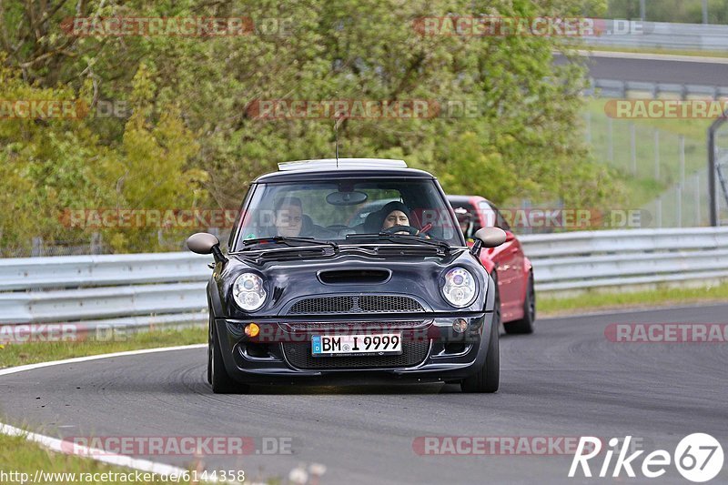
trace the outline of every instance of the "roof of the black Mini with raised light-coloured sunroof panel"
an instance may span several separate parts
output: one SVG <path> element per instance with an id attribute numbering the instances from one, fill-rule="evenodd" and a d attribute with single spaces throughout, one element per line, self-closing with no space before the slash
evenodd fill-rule
<path id="1" fill-rule="evenodd" d="M 297 160 L 279 164 L 278 172 L 256 178 L 253 183 L 326 181 L 339 178 L 424 178 L 434 179 L 432 174 L 409 168 L 402 160 L 382 158 L 322 158 Z"/>

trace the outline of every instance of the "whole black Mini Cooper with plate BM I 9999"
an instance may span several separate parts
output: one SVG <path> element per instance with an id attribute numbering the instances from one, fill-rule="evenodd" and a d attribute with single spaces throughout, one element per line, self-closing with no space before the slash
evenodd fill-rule
<path id="1" fill-rule="evenodd" d="M 250 186 L 228 242 L 212 254 L 207 379 L 250 384 L 457 382 L 498 390 L 493 284 L 435 177 L 401 160 L 278 165 Z"/>

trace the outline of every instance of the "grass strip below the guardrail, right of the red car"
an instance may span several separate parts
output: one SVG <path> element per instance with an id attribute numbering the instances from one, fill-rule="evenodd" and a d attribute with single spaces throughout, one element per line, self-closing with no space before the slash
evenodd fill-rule
<path id="1" fill-rule="evenodd" d="M 728 283 L 704 288 L 657 288 L 623 293 L 588 292 L 576 297 L 539 296 L 539 316 L 556 317 L 581 311 L 661 307 L 689 303 L 728 302 Z"/>

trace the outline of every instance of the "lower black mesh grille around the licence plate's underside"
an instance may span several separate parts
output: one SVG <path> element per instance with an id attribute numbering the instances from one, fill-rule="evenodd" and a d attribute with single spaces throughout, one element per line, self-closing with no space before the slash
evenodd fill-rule
<path id="1" fill-rule="evenodd" d="M 430 340 L 402 342 L 402 353 L 389 356 L 313 357 L 311 344 L 284 343 L 283 353 L 297 369 L 383 369 L 414 367 L 427 359 Z"/>

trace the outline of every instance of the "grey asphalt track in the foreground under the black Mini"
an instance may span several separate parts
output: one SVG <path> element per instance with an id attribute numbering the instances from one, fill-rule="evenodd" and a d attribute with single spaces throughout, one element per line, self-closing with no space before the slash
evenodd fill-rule
<path id="1" fill-rule="evenodd" d="M 532 336 L 501 338 L 501 391 L 454 385 L 256 388 L 213 395 L 205 349 L 102 359 L 0 377 L 0 419 L 51 436 L 290 438 L 292 454 L 208 456 L 207 469 L 287 478 L 299 463 L 327 467 L 323 483 L 582 483 L 571 454 L 421 456 L 423 436 L 631 435 L 672 454 L 707 432 L 728 444 L 728 343 L 614 343 L 610 323 L 727 323 L 728 304 L 541 319 Z M 615 453 L 615 456 L 617 453 Z M 593 459 L 597 474 L 602 457 Z M 152 460 L 185 465 L 181 456 Z M 612 460 L 612 465 L 613 465 Z M 640 467 L 641 459 L 636 461 Z M 613 467 L 610 468 L 611 475 Z M 638 477 L 640 477 L 638 471 Z M 689 483 L 674 466 L 658 479 Z M 728 482 L 728 467 L 713 483 Z"/>

